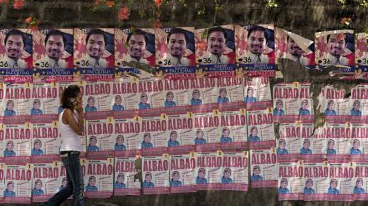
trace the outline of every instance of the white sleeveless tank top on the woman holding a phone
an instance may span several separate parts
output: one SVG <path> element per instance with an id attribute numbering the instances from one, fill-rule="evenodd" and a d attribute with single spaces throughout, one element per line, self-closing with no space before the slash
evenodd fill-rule
<path id="1" fill-rule="evenodd" d="M 64 109 L 59 115 L 59 138 L 61 139 L 60 151 L 81 151 L 81 138 L 73 131 L 71 126 L 63 123 Z M 78 123 L 78 113 L 73 112 Z"/>

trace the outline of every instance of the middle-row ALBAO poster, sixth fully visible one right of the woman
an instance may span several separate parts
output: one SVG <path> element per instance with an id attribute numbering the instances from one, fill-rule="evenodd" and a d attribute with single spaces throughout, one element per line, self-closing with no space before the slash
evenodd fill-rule
<path id="1" fill-rule="evenodd" d="M 218 136 L 220 136 L 222 150 L 247 149 L 247 112 L 244 109 L 220 112 L 220 124 L 217 126 L 217 133 L 220 133 Z"/>

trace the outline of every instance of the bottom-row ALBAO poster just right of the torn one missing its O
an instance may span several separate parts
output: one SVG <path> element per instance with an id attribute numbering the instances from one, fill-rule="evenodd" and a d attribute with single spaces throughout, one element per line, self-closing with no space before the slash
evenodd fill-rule
<path id="1" fill-rule="evenodd" d="M 142 157 L 143 194 L 170 193 L 169 154 Z"/>

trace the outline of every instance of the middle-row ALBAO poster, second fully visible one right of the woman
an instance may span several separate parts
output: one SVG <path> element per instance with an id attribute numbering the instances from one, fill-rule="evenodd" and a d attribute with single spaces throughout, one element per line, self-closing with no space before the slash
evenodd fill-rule
<path id="1" fill-rule="evenodd" d="M 115 156 L 123 156 L 124 154 L 138 154 L 141 150 L 143 135 L 141 133 L 141 124 L 139 117 L 135 118 L 117 118 L 114 116 L 114 133 L 110 137 L 113 141 L 111 149 L 114 150 Z"/>

